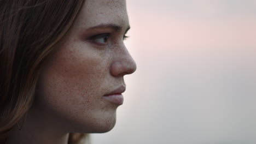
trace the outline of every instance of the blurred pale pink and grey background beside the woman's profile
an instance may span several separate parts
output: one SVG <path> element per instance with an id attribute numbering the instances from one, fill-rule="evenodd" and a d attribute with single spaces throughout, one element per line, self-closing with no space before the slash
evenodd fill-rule
<path id="1" fill-rule="evenodd" d="M 256 1 L 127 0 L 117 124 L 94 144 L 255 144 Z"/>

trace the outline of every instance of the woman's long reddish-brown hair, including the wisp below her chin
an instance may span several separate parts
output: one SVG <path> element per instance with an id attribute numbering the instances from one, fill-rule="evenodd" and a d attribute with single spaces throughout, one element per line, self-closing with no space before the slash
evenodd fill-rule
<path id="1" fill-rule="evenodd" d="M 0 143 L 30 109 L 40 71 L 84 0 L 0 1 Z M 78 143 L 86 134 L 69 134 Z"/>

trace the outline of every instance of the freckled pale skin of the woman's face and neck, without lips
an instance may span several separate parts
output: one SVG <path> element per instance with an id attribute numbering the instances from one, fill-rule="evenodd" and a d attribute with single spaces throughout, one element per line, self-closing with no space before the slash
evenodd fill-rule
<path id="1" fill-rule="evenodd" d="M 125 87 L 124 75 L 136 70 L 123 41 L 129 27 L 125 0 L 86 0 L 40 74 L 22 129 L 7 143 L 64 144 L 69 133 L 111 130 L 119 105 L 103 95 Z"/>

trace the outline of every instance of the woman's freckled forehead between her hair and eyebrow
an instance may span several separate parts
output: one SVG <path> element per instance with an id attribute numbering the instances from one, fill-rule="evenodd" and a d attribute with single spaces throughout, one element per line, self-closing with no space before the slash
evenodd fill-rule
<path id="1" fill-rule="evenodd" d="M 83 28 L 114 23 L 120 26 L 129 25 L 125 0 L 85 0 L 77 17 L 77 24 Z"/>

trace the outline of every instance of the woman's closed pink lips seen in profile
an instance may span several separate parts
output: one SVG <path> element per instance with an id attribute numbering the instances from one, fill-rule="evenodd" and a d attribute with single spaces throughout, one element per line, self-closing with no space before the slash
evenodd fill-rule
<path id="1" fill-rule="evenodd" d="M 103 95 L 103 97 L 110 103 L 122 105 L 124 103 L 124 97 L 122 95 L 123 92 L 125 92 L 125 87 L 121 86 L 115 89 L 114 91 Z"/>

